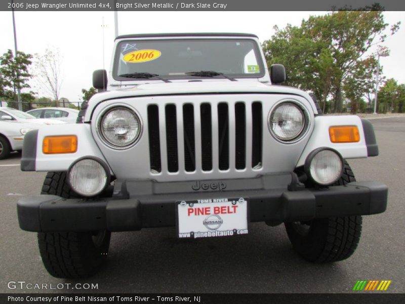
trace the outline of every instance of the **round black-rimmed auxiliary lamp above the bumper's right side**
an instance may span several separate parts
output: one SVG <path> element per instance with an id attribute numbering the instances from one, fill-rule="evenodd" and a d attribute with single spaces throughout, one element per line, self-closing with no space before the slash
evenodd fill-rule
<path id="1" fill-rule="evenodd" d="M 335 150 L 317 149 L 312 151 L 305 162 L 307 174 L 320 185 L 336 182 L 343 171 L 343 159 Z"/>

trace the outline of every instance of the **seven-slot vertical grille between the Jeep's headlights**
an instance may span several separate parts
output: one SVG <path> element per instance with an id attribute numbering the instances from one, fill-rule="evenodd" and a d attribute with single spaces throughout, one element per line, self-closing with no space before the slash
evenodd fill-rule
<path id="1" fill-rule="evenodd" d="M 257 169 L 262 163 L 261 102 L 150 104 L 152 173 Z"/>

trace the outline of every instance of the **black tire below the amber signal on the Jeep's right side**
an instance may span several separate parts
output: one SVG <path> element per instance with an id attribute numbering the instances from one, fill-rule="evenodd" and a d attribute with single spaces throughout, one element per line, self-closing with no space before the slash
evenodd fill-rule
<path id="1" fill-rule="evenodd" d="M 335 185 L 345 185 L 355 180 L 345 161 L 342 177 Z M 334 262 L 348 258 L 356 250 L 361 221 L 361 216 L 338 216 L 285 223 L 285 226 L 299 255 L 311 262 Z"/>

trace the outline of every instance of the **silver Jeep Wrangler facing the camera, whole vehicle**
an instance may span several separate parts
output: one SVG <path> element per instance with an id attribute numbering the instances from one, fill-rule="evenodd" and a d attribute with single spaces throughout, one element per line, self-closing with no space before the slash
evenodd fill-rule
<path id="1" fill-rule="evenodd" d="M 258 221 L 285 223 L 307 260 L 348 258 L 361 215 L 387 205 L 387 186 L 357 182 L 346 162 L 378 155 L 373 126 L 322 116 L 285 78 L 252 34 L 117 37 L 78 123 L 25 135 L 21 169 L 48 174 L 18 219 L 48 272 L 93 275 L 111 232 L 174 226 L 220 242 Z"/>

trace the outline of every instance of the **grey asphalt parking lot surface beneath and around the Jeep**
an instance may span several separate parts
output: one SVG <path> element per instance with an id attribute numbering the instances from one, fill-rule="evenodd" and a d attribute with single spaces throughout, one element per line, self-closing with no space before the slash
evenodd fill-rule
<path id="1" fill-rule="evenodd" d="M 296 255 L 284 225 L 254 223 L 249 236 L 223 239 L 178 240 L 174 228 L 114 233 L 109 261 L 95 277 L 83 281 L 53 278 L 43 267 L 36 234 L 20 230 L 16 215 L 18 198 L 39 194 L 45 173 L 21 172 L 20 155 L 14 154 L 0 161 L 0 292 L 342 293 L 352 292 L 357 280 L 392 280 L 386 292 L 403 293 L 405 117 L 372 123 L 380 156 L 349 163 L 357 180 L 388 185 L 388 209 L 363 217 L 356 252 L 330 264 L 312 264 Z M 94 283 L 98 289 L 9 289 L 10 281 L 54 287 Z"/>

